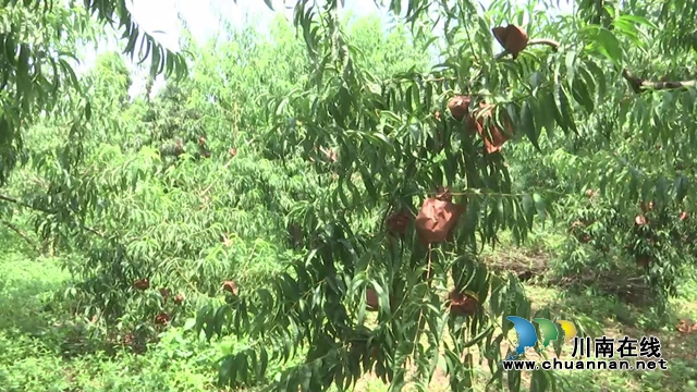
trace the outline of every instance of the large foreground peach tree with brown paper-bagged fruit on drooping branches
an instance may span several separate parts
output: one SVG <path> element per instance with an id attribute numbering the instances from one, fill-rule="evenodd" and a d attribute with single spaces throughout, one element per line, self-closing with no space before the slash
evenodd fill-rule
<path id="1" fill-rule="evenodd" d="M 543 133 L 561 131 L 584 143 L 584 133 L 615 131 L 640 138 L 663 135 L 665 146 L 670 127 L 658 113 L 667 101 L 673 108 L 694 106 L 692 83 L 633 75 L 629 68 L 643 66 L 640 59 L 650 56 L 645 39 L 660 42 L 651 42 L 652 50 L 667 40 L 649 22 L 650 11 L 659 10 L 640 9 L 644 3 L 583 4 L 578 17 L 522 28 L 497 23 L 512 13 L 509 5 L 482 14 L 469 3 L 411 1 L 406 17 L 415 32 L 427 34 L 431 19 L 439 17 L 448 49 L 430 72 L 412 70 L 388 79 L 356 65 L 359 54 L 337 22 L 335 5 L 296 5 L 314 77 L 269 108 L 274 125 L 268 135 L 281 156 L 330 151 L 318 170 L 333 173 L 335 182 L 325 199 L 293 213 L 311 235 L 307 256 L 292 273 L 279 277 L 271 290 L 243 290 L 228 304 L 199 311 L 199 328 L 209 336 L 234 333 L 253 342 L 223 358 L 221 381 L 245 382 L 262 372 L 269 357 L 289 358 L 294 347 L 308 346 L 304 362 L 274 387 L 343 389 L 374 369 L 391 389 L 401 389 L 413 362 L 409 381 L 427 390 L 442 350 L 451 385 L 458 390 L 474 382 L 476 347 L 489 365 L 490 382 L 501 384 L 498 347 L 510 328 L 505 316 L 529 317 L 530 306 L 514 277 L 493 273 L 476 255 L 503 230 L 525 240 L 535 216 L 549 213 L 540 193 L 512 191 L 504 142 L 526 138 L 539 150 Z M 677 15 L 686 7 L 663 7 L 665 27 L 681 28 Z M 395 2 L 391 10 L 401 12 Z M 531 13 L 531 20 L 546 20 L 543 12 Z M 493 51 L 494 39 L 503 53 Z M 690 39 L 681 36 L 678 44 Z M 631 98 L 624 98 L 627 82 L 637 93 Z M 659 91 L 640 94 L 645 90 Z M 671 120 L 686 121 L 678 112 Z M 621 121 L 610 121 L 613 115 Z M 612 156 L 591 157 L 595 164 L 579 174 L 599 177 L 602 192 L 617 198 L 648 188 L 683 200 L 684 177 L 662 180 L 662 186 L 650 180 L 624 186 L 621 180 L 631 169 L 608 163 L 627 160 Z M 374 224 L 366 226 L 370 219 Z M 655 273 L 676 277 L 671 268 Z M 377 310 L 374 322 L 366 321 L 366 308 Z M 505 379 L 510 389 L 519 389 L 518 373 Z M 530 389 L 547 388 L 554 388 L 553 377 L 533 373 Z"/>

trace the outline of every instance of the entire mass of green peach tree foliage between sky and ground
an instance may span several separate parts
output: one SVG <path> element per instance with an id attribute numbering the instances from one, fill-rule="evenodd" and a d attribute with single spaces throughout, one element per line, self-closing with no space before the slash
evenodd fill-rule
<path id="1" fill-rule="evenodd" d="M 453 391 L 476 382 L 477 360 L 517 391 L 500 347 L 505 317 L 531 306 L 516 274 L 480 258 L 502 235 L 524 242 L 554 218 L 570 228 L 555 273 L 640 273 L 661 309 L 690 271 L 692 4 L 551 19 L 392 2 L 386 32 L 301 2 L 302 38 L 278 20 L 174 56 L 143 36 L 151 77 L 186 58 L 188 74 L 129 97 L 118 53 L 80 79 L 64 59 L 114 13 L 137 51 L 117 3 L 13 2 L 0 32 L 0 218 L 70 255 L 75 284 L 58 295 L 111 342 L 142 346 L 197 313 L 194 330 L 240 341 L 222 384 L 347 389 L 372 369 L 427 390 L 444 355 Z M 523 15 L 535 24 L 503 28 Z"/>

